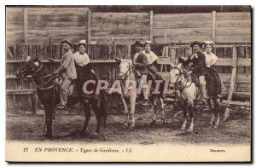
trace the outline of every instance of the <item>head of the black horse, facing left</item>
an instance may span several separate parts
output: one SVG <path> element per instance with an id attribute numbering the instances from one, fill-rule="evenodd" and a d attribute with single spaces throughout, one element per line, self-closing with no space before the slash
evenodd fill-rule
<path id="1" fill-rule="evenodd" d="M 42 62 L 38 58 L 26 57 L 26 63 L 20 66 L 19 70 L 15 72 L 17 78 L 24 78 L 28 75 L 32 75 L 42 66 Z"/>

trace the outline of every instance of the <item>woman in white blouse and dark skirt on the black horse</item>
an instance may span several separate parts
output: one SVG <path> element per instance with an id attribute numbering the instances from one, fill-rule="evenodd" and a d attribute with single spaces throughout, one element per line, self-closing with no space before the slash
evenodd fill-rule
<path id="1" fill-rule="evenodd" d="M 90 57 L 86 54 L 86 40 L 81 40 L 79 42 L 79 51 L 73 54 L 75 60 L 75 66 L 77 71 L 77 85 L 79 93 L 82 94 L 82 89 L 84 82 L 86 80 L 96 80 L 96 74 L 92 67 L 90 66 Z M 93 89 L 93 88 L 90 88 Z M 90 89 L 88 89 L 90 91 Z M 84 95 L 84 94 L 82 94 Z M 90 96 L 90 95 L 88 95 Z"/>

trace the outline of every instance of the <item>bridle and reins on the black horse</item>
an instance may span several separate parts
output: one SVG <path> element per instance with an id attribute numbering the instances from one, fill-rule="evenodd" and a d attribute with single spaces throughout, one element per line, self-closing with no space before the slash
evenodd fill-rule
<path id="1" fill-rule="evenodd" d="M 38 67 L 38 69 L 36 68 L 36 64 L 32 61 L 30 61 L 32 63 L 31 66 L 28 67 L 28 69 L 32 69 L 32 81 L 33 81 L 33 85 L 37 88 L 37 89 L 41 89 L 41 90 L 45 90 L 45 89 L 51 89 L 55 86 L 55 75 L 54 74 L 49 74 L 46 76 L 43 76 L 41 78 L 34 78 L 36 76 L 36 74 L 41 71 L 43 64 L 40 64 L 40 66 Z M 46 82 L 41 83 L 41 84 L 37 84 L 35 83 L 35 81 L 39 80 L 39 79 L 43 79 L 43 78 L 49 78 Z M 24 72 L 21 76 L 21 82 L 24 83 L 24 80 L 28 80 L 27 78 L 24 77 Z M 51 81 L 53 81 L 53 83 L 51 85 L 49 85 L 48 87 L 45 87 L 45 85 L 47 85 L 48 83 L 50 83 Z M 25 83 L 26 84 L 26 83 Z"/>

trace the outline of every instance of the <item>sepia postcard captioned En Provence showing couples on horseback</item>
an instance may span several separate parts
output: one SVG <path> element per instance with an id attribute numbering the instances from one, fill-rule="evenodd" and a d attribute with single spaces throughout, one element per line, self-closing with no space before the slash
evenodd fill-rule
<path id="1" fill-rule="evenodd" d="M 251 162 L 251 6 L 6 6 L 6 161 Z"/>

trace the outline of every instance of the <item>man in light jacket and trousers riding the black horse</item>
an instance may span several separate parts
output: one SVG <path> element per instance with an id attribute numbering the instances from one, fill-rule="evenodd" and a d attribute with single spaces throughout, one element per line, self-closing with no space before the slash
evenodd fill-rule
<path id="1" fill-rule="evenodd" d="M 77 72 L 74 65 L 72 46 L 73 43 L 67 39 L 61 41 L 62 49 L 64 49 L 64 55 L 61 59 L 61 66 L 54 72 L 55 75 L 61 75 L 63 77 L 63 82 L 61 83 L 60 95 L 61 95 L 61 106 L 57 107 L 59 109 L 67 108 L 67 93 L 68 88 L 71 85 L 73 79 L 77 78 Z M 54 60 L 49 58 L 53 62 Z"/>

